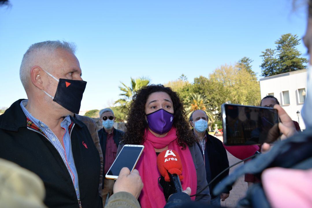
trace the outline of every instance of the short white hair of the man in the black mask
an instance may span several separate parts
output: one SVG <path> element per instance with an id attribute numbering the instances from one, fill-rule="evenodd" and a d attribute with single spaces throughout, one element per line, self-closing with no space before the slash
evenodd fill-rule
<path id="1" fill-rule="evenodd" d="M 30 69 L 35 65 L 40 65 L 40 63 L 44 63 L 45 66 L 49 65 L 52 61 L 51 58 L 54 56 L 54 52 L 56 49 L 68 50 L 71 53 L 75 54 L 76 45 L 74 43 L 68 43 L 66 41 L 47 40 L 44 42 L 32 44 L 28 48 L 23 56 L 22 64 L 20 67 L 20 79 L 25 91 L 27 91 L 28 89 Z"/>

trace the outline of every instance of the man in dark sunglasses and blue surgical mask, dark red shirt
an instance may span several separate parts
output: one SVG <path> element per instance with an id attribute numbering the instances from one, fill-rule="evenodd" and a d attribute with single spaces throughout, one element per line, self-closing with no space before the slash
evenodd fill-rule
<path id="1" fill-rule="evenodd" d="M 100 145 L 103 153 L 103 183 L 102 183 L 102 199 L 103 207 L 107 195 L 110 197 L 113 194 L 114 180 L 105 179 L 105 174 L 113 164 L 116 154 L 119 140 L 124 135 L 123 131 L 114 128 L 115 121 L 114 111 L 110 108 L 105 108 L 100 111 L 100 121 L 103 124 L 103 128 L 98 131 L 100 138 Z"/>

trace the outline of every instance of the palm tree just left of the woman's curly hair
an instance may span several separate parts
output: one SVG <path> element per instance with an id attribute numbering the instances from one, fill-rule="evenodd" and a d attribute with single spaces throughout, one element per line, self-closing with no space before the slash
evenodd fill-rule
<path id="1" fill-rule="evenodd" d="M 121 90 L 121 93 L 119 96 L 123 96 L 123 98 L 120 98 L 115 102 L 119 103 L 121 106 L 121 110 L 125 113 L 128 110 L 129 102 L 131 97 L 139 90 L 141 87 L 144 87 L 149 84 L 148 78 L 137 78 L 133 79 L 131 78 L 131 86 L 127 86 L 124 83 L 120 82 L 123 86 L 119 86 L 119 89 Z"/>

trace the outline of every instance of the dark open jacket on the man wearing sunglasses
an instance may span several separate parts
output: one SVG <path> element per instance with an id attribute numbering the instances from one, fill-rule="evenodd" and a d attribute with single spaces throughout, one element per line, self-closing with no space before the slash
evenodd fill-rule
<path id="1" fill-rule="evenodd" d="M 102 181 L 102 189 L 103 189 L 104 188 L 104 179 L 105 179 L 105 174 L 106 174 L 106 173 L 104 173 L 104 165 L 105 165 L 107 132 L 105 131 L 104 128 L 102 128 L 98 131 L 98 133 L 99 133 L 100 145 L 101 145 L 102 153 L 103 153 L 103 181 Z M 113 135 L 114 135 L 113 139 L 114 139 L 114 142 L 116 144 L 116 147 L 118 147 L 119 141 L 124 136 L 124 132 L 114 128 Z"/>

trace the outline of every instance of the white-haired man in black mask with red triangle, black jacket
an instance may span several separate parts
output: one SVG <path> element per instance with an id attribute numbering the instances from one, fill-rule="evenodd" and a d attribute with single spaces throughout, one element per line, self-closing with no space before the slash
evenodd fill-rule
<path id="1" fill-rule="evenodd" d="M 86 82 L 75 47 L 67 42 L 33 44 L 23 56 L 20 78 L 28 100 L 0 116 L 0 157 L 44 182 L 48 207 L 102 207 L 100 156 L 78 113 Z"/>

